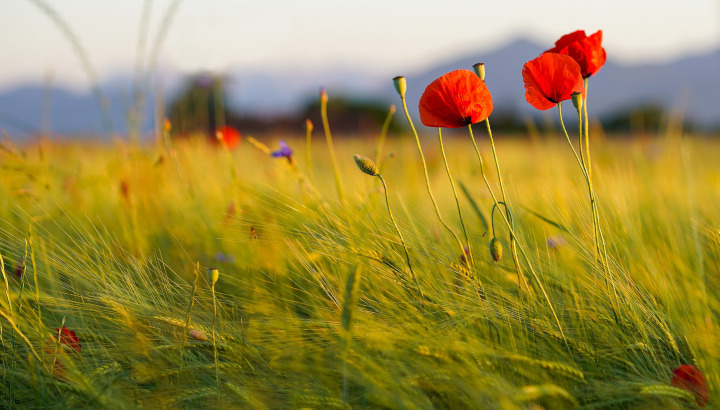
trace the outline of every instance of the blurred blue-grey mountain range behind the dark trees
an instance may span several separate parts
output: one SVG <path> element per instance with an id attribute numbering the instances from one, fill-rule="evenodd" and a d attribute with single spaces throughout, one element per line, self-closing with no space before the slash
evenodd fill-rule
<path id="1" fill-rule="evenodd" d="M 525 102 L 522 66 L 549 45 L 526 39 L 507 43 L 493 50 L 450 59 L 429 68 L 406 73 L 365 73 L 357 68 L 335 67 L 320 71 L 290 68 L 225 73 L 228 107 L 240 116 L 265 119 L 292 115 L 318 98 L 325 87 L 331 98 L 344 96 L 399 103 L 392 77 L 403 74 L 408 80 L 408 105 L 417 112 L 417 102 L 425 86 L 438 76 L 459 68 L 471 69 L 477 62 L 486 65 L 486 83 L 496 110 L 518 115 L 539 115 Z M 720 49 L 689 54 L 670 61 L 644 64 L 620 64 L 608 51 L 605 66 L 590 79 L 589 109 L 602 118 L 631 107 L 655 104 L 667 111 L 679 112 L 686 121 L 701 128 L 720 127 Z M 184 76 L 166 71 L 162 74 L 165 100 L 172 101 L 182 88 Z M 61 84 L 24 84 L 0 90 L 0 128 L 11 135 L 36 134 L 49 128 L 55 134 L 103 133 L 111 123 L 115 132 L 127 132 L 128 113 L 133 106 L 132 76 L 118 75 L 101 84 L 106 96 L 109 121 L 91 90 L 70 91 Z M 144 104 L 142 129 L 154 124 L 154 96 L 148 93 Z M 301 130 L 301 125 L 298 125 Z"/>

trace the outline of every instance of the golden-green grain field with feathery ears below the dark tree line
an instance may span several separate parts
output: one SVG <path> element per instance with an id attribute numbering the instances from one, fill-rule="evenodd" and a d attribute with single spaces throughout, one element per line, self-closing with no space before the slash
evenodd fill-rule
<path id="1" fill-rule="evenodd" d="M 446 141 L 469 257 L 414 140 L 387 142 L 380 172 L 412 272 L 382 184 L 352 158 L 375 160 L 375 140 L 336 140 L 342 200 L 325 142 L 305 143 L 288 141 L 292 163 L 248 141 L 4 144 L 3 407 L 704 404 L 671 385 L 683 364 L 720 403 L 717 142 L 593 142 L 603 264 L 567 142 L 496 136 L 521 279 L 500 212 L 491 258 L 494 202 L 469 140 Z M 462 238 L 440 150 L 423 144 Z"/>

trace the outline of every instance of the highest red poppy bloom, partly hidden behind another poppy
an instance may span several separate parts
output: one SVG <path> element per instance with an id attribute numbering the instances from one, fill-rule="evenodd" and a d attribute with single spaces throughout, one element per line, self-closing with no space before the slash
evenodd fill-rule
<path id="1" fill-rule="evenodd" d="M 607 59 L 605 49 L 602 47 L 602 30 L 589 37 L 583 30 L 566 34 L 560 37 L 555 42 L 555 47 L 547 50 L 546 53 L 567 54 L 572 57 L 580 64 L 583 78 L 597 73 Z"/>

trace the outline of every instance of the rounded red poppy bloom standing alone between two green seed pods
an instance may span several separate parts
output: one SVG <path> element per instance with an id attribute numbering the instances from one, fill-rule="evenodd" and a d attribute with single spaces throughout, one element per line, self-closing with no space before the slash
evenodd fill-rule
<path id="1" fill-rule="evenodd" d="M 460 128 L 485 120 L 492 97 L 469 70 L 455 70 L 430 83 L 420 97 L 420 120 L 428 127 Z"/>

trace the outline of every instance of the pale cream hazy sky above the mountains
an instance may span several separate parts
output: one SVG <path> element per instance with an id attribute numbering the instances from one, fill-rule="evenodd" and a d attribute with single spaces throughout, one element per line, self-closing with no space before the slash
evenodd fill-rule
<path id="1" fill-rule="evenodd" d="M 147 66 L 150 55 L 160 67 L 187 73 L 407 72 L 518 37 L 549 47 L 577 29 L 602 29 L 608 55 L 629 64 L 720 47 L 720 0 L 2 0 L 0 89 L 41 83 L 48 74 L 87 86 L 78 53 L 48 7 L 100 78 L 132 72 L 137 62 Z M 152 52 L 162 27 L 164 41 Z"/>

